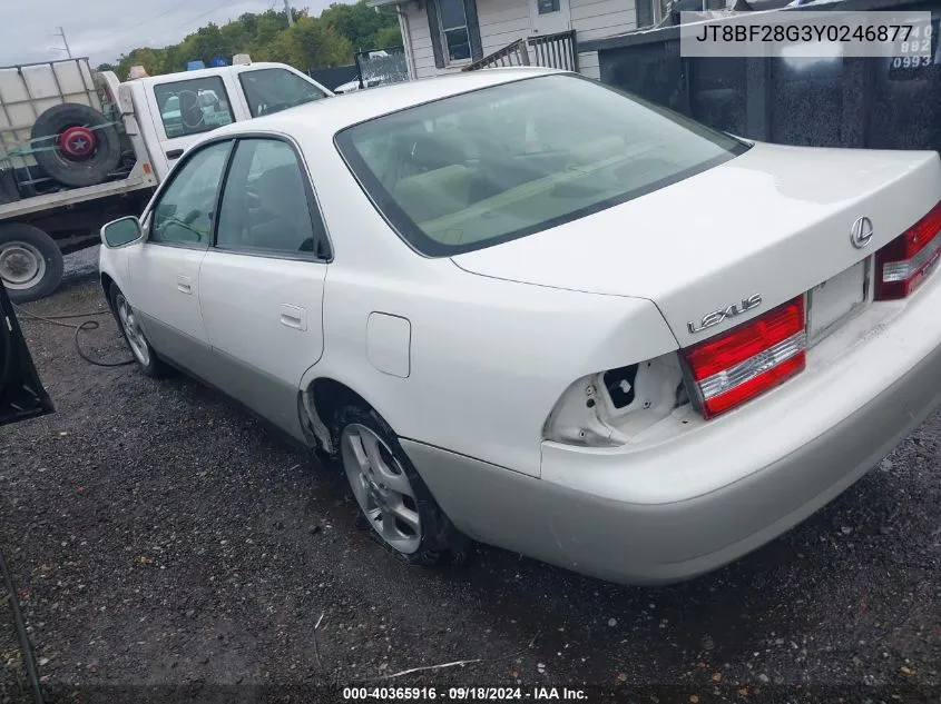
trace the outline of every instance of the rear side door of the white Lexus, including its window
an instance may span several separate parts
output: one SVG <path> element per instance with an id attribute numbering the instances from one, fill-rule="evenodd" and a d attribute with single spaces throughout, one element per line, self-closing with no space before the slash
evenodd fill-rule
<path id="1" fill-rule="evenodd" d="M 300 149 L 283 138 L 239 140 L 199 270 L 210 380 L 301 439 L 297 389 L 323 354 L 329 259 Z"/>

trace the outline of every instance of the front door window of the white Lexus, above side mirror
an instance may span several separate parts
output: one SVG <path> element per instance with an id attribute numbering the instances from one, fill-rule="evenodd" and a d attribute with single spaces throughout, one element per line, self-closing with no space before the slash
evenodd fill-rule
<path id="1" fill-rule="evenodd" d="M 210 145 L 174 172 L 173 181 L 154 207 L 149 241 L 208 247 L 213 212 L 232 142 Z"/>

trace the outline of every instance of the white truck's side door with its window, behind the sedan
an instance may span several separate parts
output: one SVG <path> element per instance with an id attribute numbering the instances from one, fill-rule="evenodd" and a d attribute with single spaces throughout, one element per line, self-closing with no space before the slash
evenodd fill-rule
<path id="1" fill-rule="evenodd" d="M 193 71 L 148 81 L 147 106 L 159 141 L 151 157 L 160 179 L 200 135 L 247 119 L 243 102 L 233 100 L 237 92 L 227 71 Z"/>

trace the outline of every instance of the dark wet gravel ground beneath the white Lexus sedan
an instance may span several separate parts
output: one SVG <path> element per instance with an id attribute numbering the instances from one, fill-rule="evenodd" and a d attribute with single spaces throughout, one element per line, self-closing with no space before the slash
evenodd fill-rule
<path id="1" fill-rule="evenodd" d="M 29 310 L 104 309 L 94 254 L 77 258 Z M 86 350 L 127 358 L 98 319 Z M 90 366 L 71 330 L 23 327 L 58 412 L 0 429 L 0 547 L 51 701 L 331 701 L 306 687 L 364 683 L 939 701 L 941 415 L 808 522 L 686 584 L 621 587 L 491 547 L 428 571 L 356 527 L 339 474 L 218 394 Z M 0 702 L 31 701 L 16 647 L 0 633 Z"/>

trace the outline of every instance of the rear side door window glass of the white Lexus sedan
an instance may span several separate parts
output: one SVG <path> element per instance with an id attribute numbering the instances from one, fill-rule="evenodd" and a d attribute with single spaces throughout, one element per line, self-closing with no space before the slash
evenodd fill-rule
<path id="1" fill-rule="evenodd" d="M 320 219 L 307 198 L 306 175 L 294 149 L 275 139 L 238 142 L 226 178 L 216 246 L 257 254 L 322 254 Z"/>

